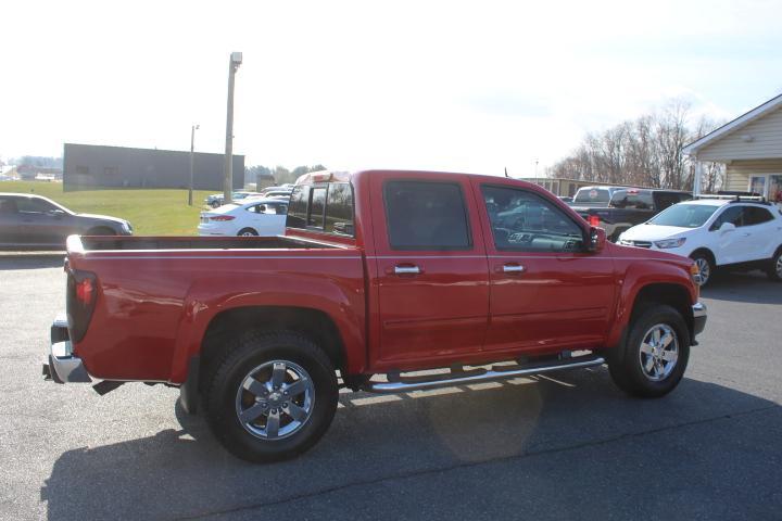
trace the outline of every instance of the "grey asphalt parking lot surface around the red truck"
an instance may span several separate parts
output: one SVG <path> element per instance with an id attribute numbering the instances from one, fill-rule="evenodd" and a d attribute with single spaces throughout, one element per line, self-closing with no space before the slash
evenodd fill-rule
<path id="1" fill-rule="evenodd" d="M 704 291 L 671 395 L 604 368 L 445 392 L 342 395 L 303 457 L 227 454 L 178 391 L 40 378 L 62 258 L 0 257 L 2 519 L 782 519 L 782 284 Z"/>

